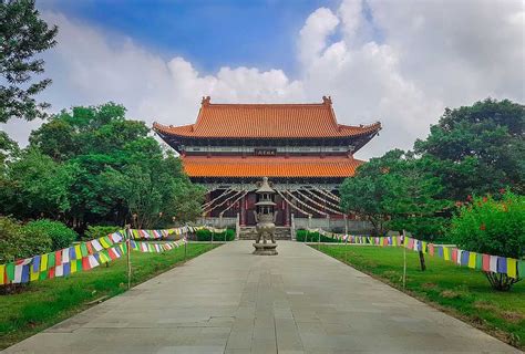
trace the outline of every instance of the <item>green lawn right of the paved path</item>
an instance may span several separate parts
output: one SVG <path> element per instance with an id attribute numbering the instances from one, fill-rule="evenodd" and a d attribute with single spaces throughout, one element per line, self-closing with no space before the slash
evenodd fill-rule
<path id="1" fill-rule="evenodd" d="M 320 251 L 402 290 L 402 248 L 321 244 Z M 425 261 L 426 271 L 422 272 L 418 252 L 406 251 L 404 292 L 525 348 L 525 280 L 509 292 L 498 292 L 481 271 L 435 257 L 425 256 Z"/>

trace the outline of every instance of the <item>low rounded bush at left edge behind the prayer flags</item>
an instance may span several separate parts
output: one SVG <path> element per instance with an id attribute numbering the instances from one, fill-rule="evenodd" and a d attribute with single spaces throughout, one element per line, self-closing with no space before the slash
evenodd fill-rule
<path id="1" fill-rule="evenodd" d="M 29 233 L 17 220 L 0 217 L 0 263 L 50 252 L 52 243 L 42 230 Z"/>

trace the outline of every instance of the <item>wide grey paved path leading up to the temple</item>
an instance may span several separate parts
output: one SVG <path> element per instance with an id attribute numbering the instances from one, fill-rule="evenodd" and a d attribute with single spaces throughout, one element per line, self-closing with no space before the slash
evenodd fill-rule
<path id="1" fill-rule="evenodd" d="M 7 353 L 521 353 L 305 244 L 222 246 Z"/>

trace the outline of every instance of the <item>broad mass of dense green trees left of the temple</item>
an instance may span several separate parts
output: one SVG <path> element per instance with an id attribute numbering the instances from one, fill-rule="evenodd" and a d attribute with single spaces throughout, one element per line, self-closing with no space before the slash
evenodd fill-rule
<path id="1" fill-rule="evenodd" d="M 148 228 L 198 217 L 202 188 L 144 122 L 126 119 L 125 112 L 114 103 L 74 107 L 33 131 L 29 148 L 8 164 L 0 208 L 24 218 L 43 211 L 80 230 L 123 226 L 133 215 Z"/>

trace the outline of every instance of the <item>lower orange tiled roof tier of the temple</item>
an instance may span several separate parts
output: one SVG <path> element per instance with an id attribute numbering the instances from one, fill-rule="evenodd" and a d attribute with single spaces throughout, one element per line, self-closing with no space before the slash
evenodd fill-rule
<path id="1" fill-rule="evenodd" d="M 189 177 L 350 177 L 363 162 L 346 156 L 182 157 Z"/>

